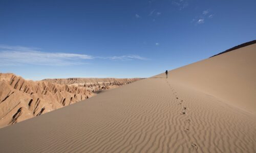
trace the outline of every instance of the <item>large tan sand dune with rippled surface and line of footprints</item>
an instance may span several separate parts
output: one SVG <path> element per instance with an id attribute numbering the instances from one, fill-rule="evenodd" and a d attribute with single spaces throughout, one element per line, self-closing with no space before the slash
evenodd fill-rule
<path id="1" fill-rule="evenodd" d="M 4 127 L 0 152 L 256 152 L 254 108 L 247 107 L 253 107 L 254 99 L 247 88 L 256 87 L 243 85 L 255 83 L 250 68 L 256 62 L 243 62 L 256 58 L 250 51 L 255 47 L 187 66 L 194 71 L 185 66 L 170 71 L 168 79 L 159 74 Z M 246 100 L 239 102 L 244 95 Z"/>

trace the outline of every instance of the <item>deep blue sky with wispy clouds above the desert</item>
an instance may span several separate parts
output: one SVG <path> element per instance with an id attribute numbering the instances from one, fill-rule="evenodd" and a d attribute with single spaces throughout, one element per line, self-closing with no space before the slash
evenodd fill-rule
<path id="1" fill-rule="evenodd" d="M 146 78 L 256 38 L 256 1 L 0 1 L 0 72 Z"/>

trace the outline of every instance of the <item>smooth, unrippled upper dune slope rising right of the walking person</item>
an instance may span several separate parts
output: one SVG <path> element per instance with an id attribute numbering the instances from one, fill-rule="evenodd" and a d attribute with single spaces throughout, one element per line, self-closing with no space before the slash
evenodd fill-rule
<path id="1" fill-rule="evenodd" d="M 169 71 L 169 77 L 256 114 L 256 44 Z"/>

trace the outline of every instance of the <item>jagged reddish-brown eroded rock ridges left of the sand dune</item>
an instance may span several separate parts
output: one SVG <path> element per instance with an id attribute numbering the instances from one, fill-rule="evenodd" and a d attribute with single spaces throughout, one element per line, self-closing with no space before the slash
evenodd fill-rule
<path id="1" fill-rule="evenodd" d="M 14 124 L 93 96 L 84 87 L 27 81 L 0 73 L 0 127 Z"/>

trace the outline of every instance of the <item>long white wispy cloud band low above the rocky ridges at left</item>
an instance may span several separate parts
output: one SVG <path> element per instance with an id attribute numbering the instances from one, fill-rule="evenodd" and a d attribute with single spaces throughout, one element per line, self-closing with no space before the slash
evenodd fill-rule
<path id="1" fill-rule="evenodd" d="M 109 60 L 146 60 L 138 55 L 123 55 L 112 57 L 94 57 L 86 54 L 72 53 L 48 53 L 39 49 L 23 46 L 0 45 L 0 66 L 7 65 L 81 65 L 88 64 L 88 60 L 109 59 Z"/>

